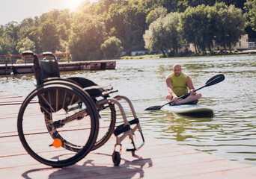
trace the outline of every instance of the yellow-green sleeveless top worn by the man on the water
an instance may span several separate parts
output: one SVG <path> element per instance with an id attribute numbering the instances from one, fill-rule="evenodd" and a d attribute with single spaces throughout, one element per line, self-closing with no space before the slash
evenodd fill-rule
<path id="1" fill-rule="evenodd" d="M 185 95 L 189 91 L 189 87 L 186 85 L 186 74 L 181 72 L 180 76 L 175 76 L 174 73 L 171 73 L 171 81 L 174 93 L 177 97 Z"/>

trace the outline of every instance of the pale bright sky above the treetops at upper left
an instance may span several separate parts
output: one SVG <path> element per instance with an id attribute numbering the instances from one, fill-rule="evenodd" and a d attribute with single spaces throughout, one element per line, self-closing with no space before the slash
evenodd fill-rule
<path id="1" fill-rule="evenodd" d="M 0 0 L 0 25 L 8 22 L 22 22 L 23 19 L 40 16 L 53 9 L 74 10 L 85 0 Z M 90 0 L 95 2 L 98 0 Z"/>

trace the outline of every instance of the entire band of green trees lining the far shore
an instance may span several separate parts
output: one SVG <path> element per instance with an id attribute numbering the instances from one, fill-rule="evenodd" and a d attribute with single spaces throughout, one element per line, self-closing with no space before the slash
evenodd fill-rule
<path id="1" fill-rule="evenodd" d="M 213 40 L 227 48 L 237 42 L 246 27 L 244 13 L 256 30 L 256 0 L 216 2 L 220 1 L 84 1 L 75 12 L 52 10 L 20 23 L 0 25 L 0 54 L 19 54 L 21 48 L 30 48 L 36 53 L 70 52 L 73 60 L 96 60 L 103 58 L 101 45 L 109 37 L 121 40 L 116 46 L 122 46 L 127 54 L 144 48 L 170 49 L 170 54 L 175 54 L 186 42 L 205 53 L 211 51 Z M 107 46 L 109 51 L 115 49 Z M 106 50 L 104 54 L 109 57 Z"/>

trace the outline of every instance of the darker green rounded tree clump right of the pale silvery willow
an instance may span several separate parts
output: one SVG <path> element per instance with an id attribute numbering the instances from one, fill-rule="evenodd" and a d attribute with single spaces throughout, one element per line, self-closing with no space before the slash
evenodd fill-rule
<path id="1" fill-rule="evenodd" d="M 213 40 L 223 47 L 231 49 L 246 28 L 246 19 L 242 10 L 216 3 L 215 6 L 188 7 L 180 21 L 183 38 L 194 43 L 198 51 L 212 51 Z"/>

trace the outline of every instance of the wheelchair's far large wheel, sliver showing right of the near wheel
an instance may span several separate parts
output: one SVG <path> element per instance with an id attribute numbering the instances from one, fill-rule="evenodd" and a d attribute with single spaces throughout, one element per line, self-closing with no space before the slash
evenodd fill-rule
<path id="1" fill-rule="evenodd" d="M 97 103 L 97 110 L 99 113 L 100 130 L 92 150 L 100 148 L 102 145 L 104 145 L 109 140 L 110 136 L 112 136 L 115 129 L 115 104 L 112 104 L 105 99 Z"/>

